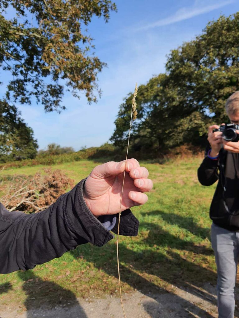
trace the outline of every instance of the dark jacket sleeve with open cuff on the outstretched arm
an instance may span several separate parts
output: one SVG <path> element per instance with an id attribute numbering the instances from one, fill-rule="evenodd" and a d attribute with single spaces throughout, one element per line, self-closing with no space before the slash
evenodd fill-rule
<path id="1" fill-rule="evenodd" d="M 77 245 L 102 246 L 114 236 L 91 213 L 83 198 L 84 180 L 48 209 L 35 213 L 9 212 L 0 204 L 0 273 L 32 269 L 60 257 Z M 117 233 L 119 214 L 112 229 Z M 120 234 L 136 236 L 139 221 L 122 212 Z"/>

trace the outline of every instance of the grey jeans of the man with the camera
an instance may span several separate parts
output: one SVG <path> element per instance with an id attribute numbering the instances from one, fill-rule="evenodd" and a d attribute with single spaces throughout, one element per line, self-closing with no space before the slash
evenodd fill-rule
<path id="1" fill-rule="evenodd" d="M 233 318 L 234 287 L 239 256 L 239 232 L 231 232 L 212 224 L 212 248 L 217 264 L 218 318 Z"/>

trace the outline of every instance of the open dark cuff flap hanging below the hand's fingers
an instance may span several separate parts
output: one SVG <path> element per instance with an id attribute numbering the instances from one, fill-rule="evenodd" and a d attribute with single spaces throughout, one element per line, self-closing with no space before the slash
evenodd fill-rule
<path id="1" fill-rule="evenodd" d="M 119 213 L 116 214 L 116 224 L 112 229 L 115 234 L 118 233 Z M 119 234 L 125 236 L 137 236 L 139 232 L 139 220 L 127 209 L 121 212 Z"/>

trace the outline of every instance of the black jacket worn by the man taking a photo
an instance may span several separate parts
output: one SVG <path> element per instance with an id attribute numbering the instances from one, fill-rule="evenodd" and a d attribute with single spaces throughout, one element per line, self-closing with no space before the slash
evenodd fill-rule
<path id="1" fill-rule="evenodd" d="M 239 154 L 221 149 L 219 160 L 212 160 L 207 156 L 209 149 L 198 169 L 198 179 L 206 186 L 219 180 L 210 206 L 210 218 L 229 231 L 239 231 Z"/>

